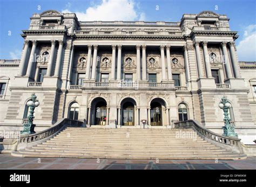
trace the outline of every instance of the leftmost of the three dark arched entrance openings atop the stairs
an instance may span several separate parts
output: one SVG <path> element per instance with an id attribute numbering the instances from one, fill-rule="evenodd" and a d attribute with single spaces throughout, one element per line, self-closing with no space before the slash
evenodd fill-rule
<path id="1" fill-rule="evenodd" d="M 91 124 L 107 124 L 107 103 L 103 98 L 96 98 L 91 103 Z"/>

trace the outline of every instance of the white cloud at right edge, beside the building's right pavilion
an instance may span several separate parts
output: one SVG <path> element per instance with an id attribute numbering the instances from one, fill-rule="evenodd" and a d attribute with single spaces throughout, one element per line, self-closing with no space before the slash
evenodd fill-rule
<path id="1" fill-rule="evenodd" d="M 239 61 L 256 61 L 256 25 L 248 25 L 237 45 Z"/>

